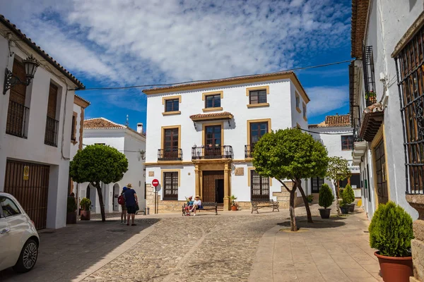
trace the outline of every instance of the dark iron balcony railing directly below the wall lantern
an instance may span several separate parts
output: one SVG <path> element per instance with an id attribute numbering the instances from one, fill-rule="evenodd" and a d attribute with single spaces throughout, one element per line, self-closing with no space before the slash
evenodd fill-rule
<path id="1" fill-rule="evenodd" d="M 26 138 L 26 123 L 28 121 L 28 114 L 30 108 L 9 100 L 7 121 L 6 121 L 6 133 L 9 135 L 15 135 L 18 137 Z"/>

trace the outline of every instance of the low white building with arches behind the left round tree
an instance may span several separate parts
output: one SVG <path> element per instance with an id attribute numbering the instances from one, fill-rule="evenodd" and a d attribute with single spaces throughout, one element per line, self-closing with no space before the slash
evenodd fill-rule
<path id="1" fill-rule="evenodd" d="M 128 171 L 117 183 L 102 183 L 105 212 L 120 212 L 118 197 L 122 188 L 131 183 L 139 197 L 140 211 L 146 207 L 146 172 L 143 170 L 143 158 L 146 152 L 146 135 L 143 133 L 143 123 L 137 124 L 137 130 L 126 125 L 114 123 L 106 118 L 90 118 L 84 121 L 83 145 L 108 145 L 125 154 L 128 159 Z M 73 183 L 78 202 L 83 197 L 91 200 L 91 212 L 100 213 L 98 192 L 88 183 Z"/>

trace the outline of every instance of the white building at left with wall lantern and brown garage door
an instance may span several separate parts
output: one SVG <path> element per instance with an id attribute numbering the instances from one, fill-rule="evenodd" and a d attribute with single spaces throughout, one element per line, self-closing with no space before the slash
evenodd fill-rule
<path id="1" fill-rule="evenodd" d="M 35 226 L 66 224 L 74 90 L 84 85 L 0 16 L 0 191 L 14 195 Z M 25 82 L 25 59 L 40 62 Z M 11 80 L 5 82 L 5 68 Z"/>

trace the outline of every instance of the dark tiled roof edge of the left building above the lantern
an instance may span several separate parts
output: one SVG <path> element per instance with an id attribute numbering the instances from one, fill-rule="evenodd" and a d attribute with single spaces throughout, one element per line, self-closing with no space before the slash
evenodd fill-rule
<path id="1" fill-rule="evenodd" d="M 57 68 L 58 71 L 63 73 L 66 78 L 71 80 L 73 83 L 75 83 L 79 89 L 85 89 L 86 87 L 83 85 L 81 81 L 79 81 L 75 76 L 72 75 L 72 73 L 69 73 L 69 71 L 66 71 L 66 68 L 60 65 L 57 61 L 55 61 L 49 54 L 47 54 L 43 49 L 41 49 L 40 46 L 37 46 L 33 40 L 31 40 L 29 37 L 26 37 L 26 35 L 21 32 L 16 25 L 13 25 L 13 23 L 10 22 L 7 18 L 4 18 L 3 15 L 0 15 L 0 23 L 6 25 L 6 27 L 11 30 L 17 37 L 22 39 L 25 44 L 28 44 L 29 47 L 33 48 L 34 51 L 36 51 L 40 56 L 42 56 L 47 62 L 52 64 L 54 68 Z"/>

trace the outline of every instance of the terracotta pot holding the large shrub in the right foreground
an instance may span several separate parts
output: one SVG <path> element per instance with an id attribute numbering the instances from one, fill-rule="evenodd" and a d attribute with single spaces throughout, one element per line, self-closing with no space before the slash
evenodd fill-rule
<path id="1" fill-rule="evenodd" d="M 386 257 L 375 252 L 378 257 L 384 282 L 409 282 L 413 276 L 412 257 Z"/>

